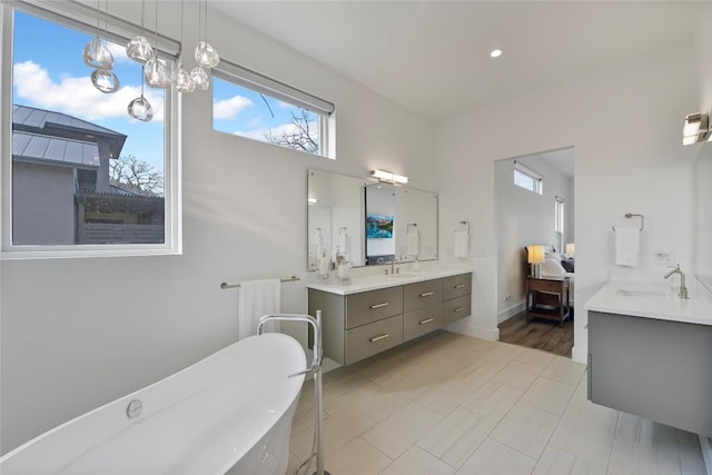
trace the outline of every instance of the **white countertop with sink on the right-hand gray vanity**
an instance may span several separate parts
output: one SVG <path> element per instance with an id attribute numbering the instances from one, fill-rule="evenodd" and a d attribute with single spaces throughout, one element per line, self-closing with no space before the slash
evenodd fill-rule
<path id="1" fill-rule="evenodd" d="M 678 297 L 669 283 L 610 281 L 584 308 L 606 314 L 712 325 L 712 294 L 690 277 L 689 299 Z"/>

